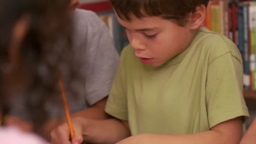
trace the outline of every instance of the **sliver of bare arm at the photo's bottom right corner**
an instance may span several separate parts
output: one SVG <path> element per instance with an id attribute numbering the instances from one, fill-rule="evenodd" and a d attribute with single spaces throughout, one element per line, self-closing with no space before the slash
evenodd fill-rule
<path id="1" fill-rule="evenodd" d="M 256 141 L 256 118 L 247 130 L 245 136 L 241 140 L 240 144 L 253 144 Z"/>

